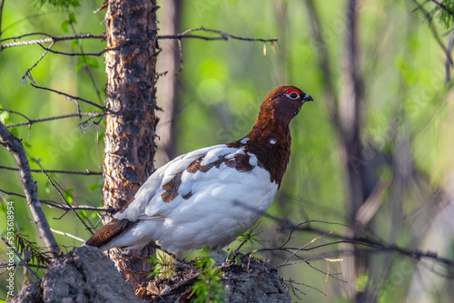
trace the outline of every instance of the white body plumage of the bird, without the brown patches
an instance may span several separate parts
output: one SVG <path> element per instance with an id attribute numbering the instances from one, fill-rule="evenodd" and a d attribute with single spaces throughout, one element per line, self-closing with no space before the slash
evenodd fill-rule
<path id="1" fill-rule="evenodd" d="M 226 164 L 235 155 L 244 156 L 243 147 L 221 144 L 165 164 L 143 183 L 127 208 L 114 216 L 137 221 L 133 228 L 100 249 L 134 249 L 152 239 L 171 252 L 222 248 L 231 243 L 237 237 L 233 231 L 248 230 L 269 209 L 278 191 L 278 184 L 271 181 L 270 172 L 259 165 L 255 155 L 247 154 L 251 170 L 243 171 Z M 202 167 L 218 163 L 207 171 L 188 171 L 201 157 Z M 177 194 L 165 201 L 163 194 L 169 191 L 165 184 L 171 184 L 177 175 L 179 182 L 172 189 Z"/>

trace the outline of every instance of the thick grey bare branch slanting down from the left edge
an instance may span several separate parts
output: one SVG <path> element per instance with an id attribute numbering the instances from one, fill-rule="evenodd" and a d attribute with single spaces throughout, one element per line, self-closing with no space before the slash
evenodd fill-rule
<path id="1" fill-rule="evenodd" d="M 5 146 L 8 152 L 13 153 L 15 161 L 19 167 L 21 175 L 22 186 L 25 192 L 25 198 L 28 206 L 32 211 L 35 223 L 38 227 L 41 238 L 44 240 L 44 245 L 51 251 L 58 252 L 60 248 L 54 238 L 54 234 L 50 230 L 49 222 L 46 220 L 43 208 L 38 198 L 38 191 L 36 183 L 33 180 L 32 172 L 30 171 L 30 165 L 25 155 L 24 146 L 21 141 L 17 139 L 5 125 L 0 122 L 0 144 Z"/>

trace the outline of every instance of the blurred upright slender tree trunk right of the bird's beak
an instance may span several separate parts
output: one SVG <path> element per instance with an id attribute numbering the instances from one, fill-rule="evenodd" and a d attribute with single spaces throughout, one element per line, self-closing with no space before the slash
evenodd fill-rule
<path id="1" fill-rule="evenodd" d="M 339 118 L 341 122 L 341 161 L 346 181 L 346 209 L 350 221 L 348 236 L 360 234 L 356 216 L 364 201 L 370 195 L 365 186 L 367 164 L 361 152 L 361 123 L 363 122 L 364 88 L 360 69 L 359 28 L 360 0 L 348 0 L 345 12 L 346 49 L 344 60 L 344 86 L 339 100 Z M 355 302 L 361 302 L 361 294 L 356 291 L 356 279 L 364 272 L 365 256 L 353 245 L 352 257 L 345 258 L 342 272 L 348 282 L 347 292 Z"/>

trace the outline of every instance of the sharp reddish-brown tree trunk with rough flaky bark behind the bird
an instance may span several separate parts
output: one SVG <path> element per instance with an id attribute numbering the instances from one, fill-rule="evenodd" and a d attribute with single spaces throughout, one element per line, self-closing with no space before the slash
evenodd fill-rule
<path id="1" fill-rule="evenodd" d="M 109 0 L 105 15 L 106 107 L 104 205 L 119 210 L 153 172 L 156 150 L 155 64 L 157 55 L 156 0 Z M 111 249 L 110 257 L 134 285 L 149 266 L 151 249 Z"/>

